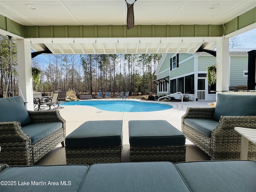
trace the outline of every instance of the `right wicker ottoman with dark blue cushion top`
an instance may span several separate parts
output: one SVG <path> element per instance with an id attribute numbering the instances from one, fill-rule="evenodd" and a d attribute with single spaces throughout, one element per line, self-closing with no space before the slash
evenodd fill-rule
<path id="1" fill-rule="evenodd" d="M 186 137 L 165 120 L 129 121 L 131 162 L 186 160 Z"/>

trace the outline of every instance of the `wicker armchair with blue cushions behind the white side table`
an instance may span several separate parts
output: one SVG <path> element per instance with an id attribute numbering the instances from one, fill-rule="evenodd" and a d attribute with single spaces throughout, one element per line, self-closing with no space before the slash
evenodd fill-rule
<path id="1" fill-rule="evenodd" d="M 217 94 L 215 108 L 187 108 L 182 132 L 213 160 L 240 159 L 241 136 L 234 127 L 256 128 L 256 94 Z M 256 158 L 249 142 L 248 159 Z"/>

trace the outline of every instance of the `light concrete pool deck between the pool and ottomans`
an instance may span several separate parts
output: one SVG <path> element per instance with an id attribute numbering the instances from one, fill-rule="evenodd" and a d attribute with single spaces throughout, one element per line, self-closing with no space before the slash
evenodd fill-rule
<path id="1" fill-rule="evenodd" d="M 116 100 L 116 99 L 111 99 Z M 131 99 L 137 100 L 137 99 Z M 137 100 L 141 102 L 150 102 Z M 160 102 L 166 104 L 166 102 Z M 60 109 L 60 115 L 66 120 L 66 134 L 70 134 L 86 121 L 96 120 L 122 120 L 123 121 L 123 144 L 129 144 L 128 122 L 130 120 L 166 120 L 181 131 L 181 117 L 188 107 L 210 107 L 209 101 L 174 102 L 173 108 L 153 112 L 112 112 L 99 110 L 91 106 L 64 106 Z M 168 102 L 168 104 L 171 104 Z M 178 105 L 178 108 L 176 106 Z M 187 140 L 187 142 L 190 142 Z"/>

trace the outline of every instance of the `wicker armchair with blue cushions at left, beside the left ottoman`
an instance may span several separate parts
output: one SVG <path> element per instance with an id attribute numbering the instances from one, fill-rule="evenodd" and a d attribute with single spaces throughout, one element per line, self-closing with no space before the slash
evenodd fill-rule
<path id="1" fill-rule="evenodd" d="M 20 96 L 0 99 L 0 163 L 33 165 L 66 137 L 59 111 L 27 111 Z"/>

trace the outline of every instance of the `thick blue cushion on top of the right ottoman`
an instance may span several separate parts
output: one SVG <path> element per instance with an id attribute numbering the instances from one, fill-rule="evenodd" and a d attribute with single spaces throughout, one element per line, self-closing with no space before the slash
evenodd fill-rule
<path id="1" fill-rule="evenodd" d="M 186 137 L 165 120 L 129 121 L 131 146 L 175 146 L 184 145 Z"/>

